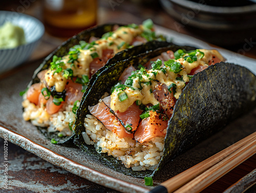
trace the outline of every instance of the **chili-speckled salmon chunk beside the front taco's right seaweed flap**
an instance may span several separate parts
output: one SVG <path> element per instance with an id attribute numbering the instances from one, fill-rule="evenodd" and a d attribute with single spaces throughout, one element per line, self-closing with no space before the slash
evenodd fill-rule
<path id="1" fill-rule="evenodd" d="M 165 137 L 168 121 L 156 111 L 149 112 L 150 117 L 143 119 L 134 134 L 136 141 L 143 143 L 154 137 Z"/>

